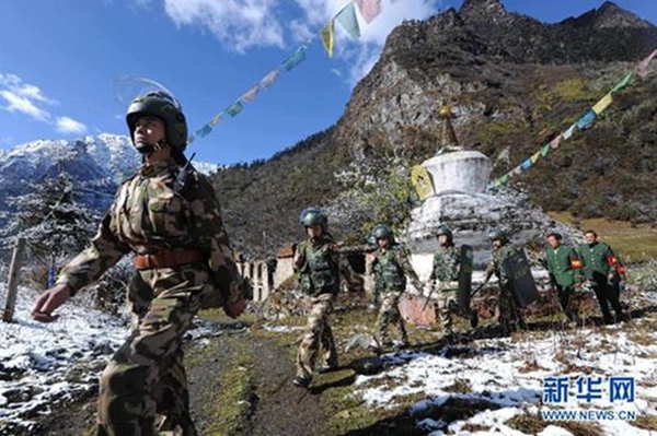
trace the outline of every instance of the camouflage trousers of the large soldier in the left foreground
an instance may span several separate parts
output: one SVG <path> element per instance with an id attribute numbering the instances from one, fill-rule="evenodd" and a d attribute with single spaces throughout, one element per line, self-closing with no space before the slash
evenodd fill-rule
<path id="1" fill-rule="evenodd" d="M 139 271 L 128 286 L 132 332 L 101 375 L 97 434 L 196 435 L 189 417 L 189 393 L 183 366 L 183 334 L 200 306 L 209 273 L 200 266 Z"/>

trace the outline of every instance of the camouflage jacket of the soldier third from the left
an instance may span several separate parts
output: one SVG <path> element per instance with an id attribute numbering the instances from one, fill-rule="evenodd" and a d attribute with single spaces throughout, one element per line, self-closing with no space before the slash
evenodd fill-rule
<path id="1" fill-rule="evenodd" d="M 406 275 L 415 287 L 419 287 L 419 279 L 408 261 L 408 254 L 399 245 L 390 249 L 379 248 L 372 261 L 374 272 L 374 287 L 379 293 L 404 292 Z"/>

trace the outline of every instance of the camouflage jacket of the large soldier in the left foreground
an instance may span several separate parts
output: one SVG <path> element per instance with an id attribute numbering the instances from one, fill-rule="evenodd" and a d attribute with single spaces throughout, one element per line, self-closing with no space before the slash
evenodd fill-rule
<path id="1" fill-rule="evenodd" d="M 142 165 L 125 181 L 105 213 L 90 247 L 59 275 L 73 293 L 96 281 L 124 255 L 158 250 L 201 250 L 215 284 L 230 303 L 241 298 L 241 281 L 219 202 L 207 178 L 192 170 L 181 192 L 173 190 L 181 168 L 172 158 Z"/>

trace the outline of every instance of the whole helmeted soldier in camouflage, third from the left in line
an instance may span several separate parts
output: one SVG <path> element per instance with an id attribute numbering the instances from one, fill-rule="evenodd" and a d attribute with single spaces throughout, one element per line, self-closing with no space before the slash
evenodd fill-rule
<path id="1" fill-rule="evenodd" d="M 377 317 L 377 346 L 380 352 L 382 346 L 391 346 L 388 337 L 388 326 L 396 325 L 401 333 L 402 346 L 408 345 L 408 335 L 404 320 L 399 309 L 402 293 L 406 290 L 406 275 L 411 278 L 413 286 L 422 290 L 422 283 L 408 261 L 407 251 L 397 245 L 390 227 L 384 224 L 377 225 L 372 231 L 378 249 L 372 254 L 372 269 L 374 272 L 374 287 L 381 298 L 379 316 Z"/>

